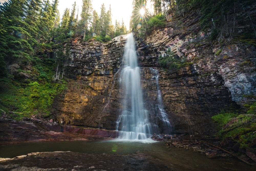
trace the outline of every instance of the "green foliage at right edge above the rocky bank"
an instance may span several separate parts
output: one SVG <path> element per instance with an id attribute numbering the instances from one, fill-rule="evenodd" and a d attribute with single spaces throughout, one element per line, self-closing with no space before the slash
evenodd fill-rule
<path id="1" fill-rule="evenodd" d="M 219 131 L 218 137 L 231 137 L 240 143 L 241 147 L 253 147 L 252 141 L 256 138 L 256 102 L 245 106 L 248 107 L 246 114 L 223 111 L 212 116 L 212 120 Z"/>

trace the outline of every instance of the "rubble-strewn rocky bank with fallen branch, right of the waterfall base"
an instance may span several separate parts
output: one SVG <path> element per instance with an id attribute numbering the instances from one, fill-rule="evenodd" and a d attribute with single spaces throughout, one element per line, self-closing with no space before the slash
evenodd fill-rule
<path id="1" fill-rule="evenodd" d="M 240 144 L 232 138 L 225 141 L 214 138 L 194 137 L 192 135 L 163 135 L 163 138 L 152 136 L 156 141 L 163 141 L 166 148 L 184 148 L 201 154 L 208 158 L 235 157 L 249 165 L 255 165 L 256 155 L 249 148 L 239 148 Z"/>

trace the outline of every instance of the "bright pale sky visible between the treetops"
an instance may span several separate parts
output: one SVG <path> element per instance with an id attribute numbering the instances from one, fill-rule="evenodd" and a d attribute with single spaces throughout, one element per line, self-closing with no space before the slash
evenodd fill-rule
<path id="1" fill-rule="evenodd" d="M 3 3 L 6 0 L 0 0 Z M 59 12 L 60 18 L 62 18 L 63 12 L 65 8 L 69 8 L 71 10 L 72 4 L 76 1 L 77 7 L 79 8 L 79 17 L 82 8 L 82 0 L 59 0 Z M 126 28 L 129 29 L 130 17 L 132 15 L 132 1 L 133 0 L 92 0 L 92 8 L 95 9 L 100 15 L 101 4 L 104 3 L 106 11 L 109 9 L 109 5 L 111 4 L 112 11 L 112 24 L 115 24 L 115 20 L 117 19 L 122 22 L 122 18 L 124 20 L 124 24 Z M 147 8 L 151 6 L 151 1 L 147 1 Z"/>

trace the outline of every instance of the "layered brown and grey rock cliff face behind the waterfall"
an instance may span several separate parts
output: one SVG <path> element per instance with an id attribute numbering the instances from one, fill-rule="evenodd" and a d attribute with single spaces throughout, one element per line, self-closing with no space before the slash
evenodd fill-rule
<path id="1" fill-rule="evenodd" d="M 194 11 L 138 40 L 138 61 L 147 110 L 155 115 L 157 90 L 150 70 L 154 68 L 159 70 L 163 103 L 175 131 L 207 134 L 211 116 L 223 108 L 242 107 L 248 100 L 244 95 L 256 94 L 256 51 L 238 40 L 212 44 L 198 20 L 199 12 Z M 124 43 L 125 36 L 108 44 L 73 42 L 68 90 L 55 100 L 59 123 L 115 129 L 122 106 L 119 78 Z M 186 57 L 188 65 L 161 68 L 158 56 L 167 49 Z"/>

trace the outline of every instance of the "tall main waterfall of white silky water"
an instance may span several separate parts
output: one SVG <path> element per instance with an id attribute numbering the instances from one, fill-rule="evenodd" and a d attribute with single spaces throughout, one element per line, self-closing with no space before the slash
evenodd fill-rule
<path id="1" fill-rule="evenodd" d="M 158 127 L 148 120 L 144 109 L 141 88 L 140 68 L 133 34 L 127 35 L 124 46 L 125 66 L 121 72 L 121 87 L 124 88 L 123 111 L 116 122 L 116 130 L 121 130 L 119 138 L 123 140 L 146 140 Z"/>

